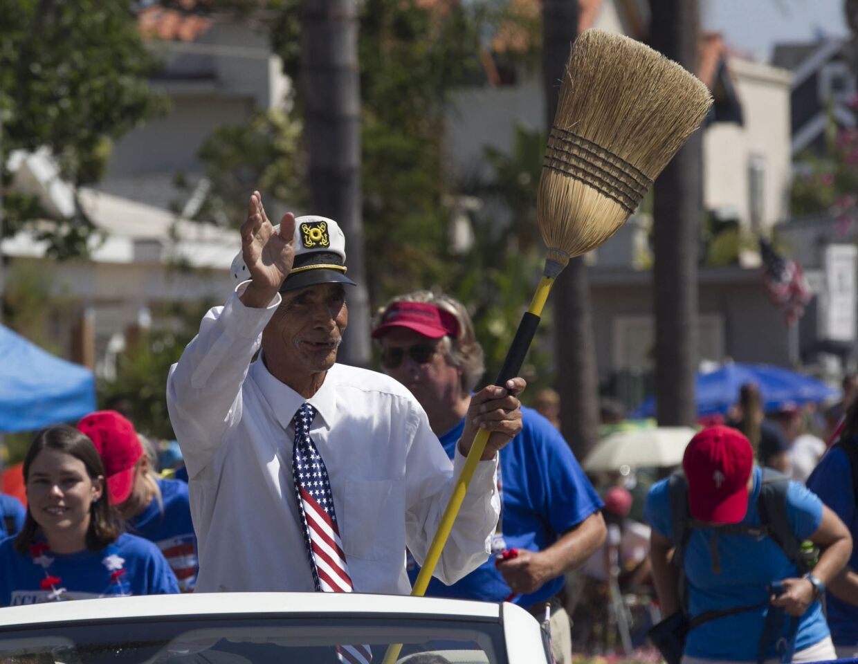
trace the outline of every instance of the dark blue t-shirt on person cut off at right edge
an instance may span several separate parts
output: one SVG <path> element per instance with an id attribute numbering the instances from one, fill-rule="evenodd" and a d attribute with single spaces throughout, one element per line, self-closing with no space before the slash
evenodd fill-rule
<path id="1" fill-rule="evenodd" d="M 819 460 L 807 478 L 807 488 L 816 493 L 828 508 L 840 517 L 849 528 L 853 540 L 858 540 L 858 510 L 855 510 L 855 492 L 852 490 L 852 467 L 849 456 L 839 448 L 832 448 Z M 858 570 L 858 546 L 852 547 L 849 566 Z M 858 644 L 858 607 L 840 601 L 825 593 L 828 626 L 835 645 Z"/>

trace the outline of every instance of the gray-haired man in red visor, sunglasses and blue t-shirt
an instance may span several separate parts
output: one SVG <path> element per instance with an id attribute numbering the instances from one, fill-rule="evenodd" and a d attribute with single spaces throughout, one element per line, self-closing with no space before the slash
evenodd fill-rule
<path id="1" fill-rule="evenodd" d="M 474 385 L 483 351 L 468 311 L 449 295 L 418 291 L 394 298 L 372 337 L 384 370 L 420 401 L 449 456 L 469 435 Z M 569 616 L 561 595 L 564 574 L 582 565 L 605 540 L 601 499 L 563 437 L 541 414 L 522 408 L 523 430 L 500 454 L 501 516 L 493 559 L 451 586 L 433 579 L 426 595 L 512 601 L 538 619 L 551 614 L 558 662 L 571 662 Z M 409 565 L 412 581 L 417 565 Z"/>

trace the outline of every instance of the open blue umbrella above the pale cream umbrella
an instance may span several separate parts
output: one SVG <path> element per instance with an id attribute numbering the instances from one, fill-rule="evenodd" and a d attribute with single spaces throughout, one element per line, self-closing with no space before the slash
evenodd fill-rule
<path id="1" fill-rule="evenodd" d="M 801 406 L 836 397 L 839 392 L 816 378 L 771 365 L 727 364 L 716 371 L 698 373 L 695 381 L 698 415 L 727 414 L 739 400 L 745 383 L 754 383 L 763 396 L 766 411 L 787 404 Z M 632 413 L 632 417 L 651 417 L 656 413 L 656 398 L 650 396 Z"/>

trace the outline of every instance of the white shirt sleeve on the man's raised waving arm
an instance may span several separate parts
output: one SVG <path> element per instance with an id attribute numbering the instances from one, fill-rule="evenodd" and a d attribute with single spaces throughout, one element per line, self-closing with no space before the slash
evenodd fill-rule
<path id="1" fill-rule="evenodd" d="M 224 434 L 241 420 L 241 386 L 265 325 L 280 305 L 280 294 L 265 309 L 247 307 L 235 289 L 223 307 L 202 318 L 200 332 L 184 349 L 167 378 L 170 422 L 190 477 L 202 472 Z"/>

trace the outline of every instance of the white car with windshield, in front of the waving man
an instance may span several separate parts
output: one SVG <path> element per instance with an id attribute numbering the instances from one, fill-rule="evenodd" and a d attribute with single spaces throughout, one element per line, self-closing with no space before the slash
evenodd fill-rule
<path id="1" fill-rule="evenodd" d="M 339 593 L 150 595 L 0 609 L 0 664 L 547 664 L 512 604 Z M 368 660 L 363 660 L 368 661 Z"/>

